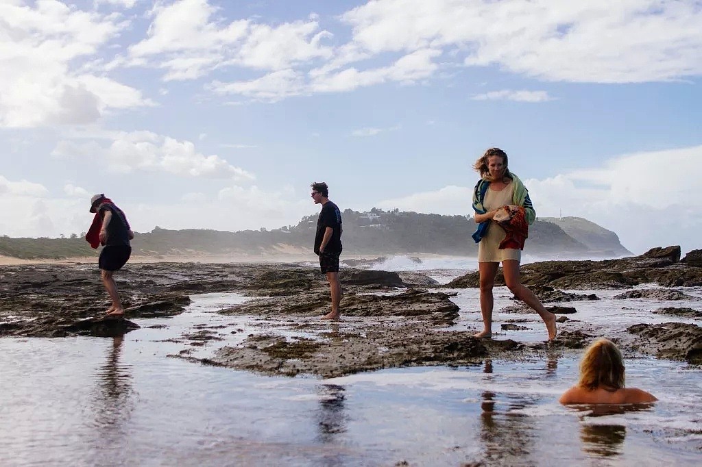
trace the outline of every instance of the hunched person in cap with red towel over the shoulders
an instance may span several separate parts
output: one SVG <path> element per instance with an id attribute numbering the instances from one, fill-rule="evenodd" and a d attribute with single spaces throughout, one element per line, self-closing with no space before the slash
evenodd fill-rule
<path id="1" fill-rule="evenodd" d="M 110 295 L 112 306 L 107 309 L 108 316 L 124 316 L 124 307 L 117 294 L 117 285 L 112 275 L 119 271 L 131 256 L 131 241 L 134 234 L 121 209 L 117 208 L 105 194 L 96 194 L 91 199 L 90 212 L 95 212 L 86 240 L 93 248 L 103 245 L 98 265 L 102 284 Z"/>

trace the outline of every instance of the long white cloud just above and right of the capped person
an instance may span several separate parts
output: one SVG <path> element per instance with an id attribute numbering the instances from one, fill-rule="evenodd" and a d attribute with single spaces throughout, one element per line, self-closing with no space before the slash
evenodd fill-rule
<path id="1" fill-rule="evenodd" d="M 228 163 L 216 154 L 201 154 L 190 141 L 179 141 L 156 133 L 102 133 L 105 142 L 62 140 L 51 155 L 58 158 L 101 157 L 114 172 L 135 170 L 165 172 L 183 177 L 253 180 L 250 172 Z"/>

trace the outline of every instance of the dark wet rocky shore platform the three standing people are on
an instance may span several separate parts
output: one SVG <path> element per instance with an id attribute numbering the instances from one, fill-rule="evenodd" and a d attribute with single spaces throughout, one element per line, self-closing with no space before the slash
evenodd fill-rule
<path id="1" fill-rule="evenodd" d="M 128 264 L 115 276 L 126 319 L 105 318 L 110 304 L 95 264 L 0 266 L 0 337 L 117 336 L 147 327 L 142 318 L 183 313 L 192 295 L 237 292 L 249 300 L 218 313 L 247 318 L 246 335 L 237 325 L 213 320 L 172 339 L 184 346 L 174 357 L 264 374 L 336 377 L 388 367 L 579 354 L 604 332 L 574 318 L 578 302 L 600 299 L 593 290 L 622 289 L 622 299 L 681 299 L 686 305 L 651 312 L 670 318 L 666 323 L 634 323 L 607 337 L 628 356 L 700 364 L 702 327 L 690 321 L 702 320 L 702 301 L 694 306 L 698 299 L 684 291 L 702 287 L 701 253 L 694 250 L 681 259 L 680 248 L 673 246 L 637 257 L 522 266 L 523 283 L 559 316 L 559 333 L 550 343 L 475 339 L 479 319 L 457 325 L 479 306 L 462 310 L 451 297 L 477 287 L 477 273 L 439 285 L 420 272 L 343 269 L 342 319 L 319 320 L 329 311 L 329 286 L 317 268 L 301 264 Z M 501 281 L 498 277 L 496 285 Z M 527 311 L 513 300 L 510 312 Z M 517 324 L 503 328 L 510 326 L 519 329 Z M 239 334 L 237 343 L 222 344 L 231 334 Z M 211 350 L 206 357 L 200 352 L 204 347 Z"/>

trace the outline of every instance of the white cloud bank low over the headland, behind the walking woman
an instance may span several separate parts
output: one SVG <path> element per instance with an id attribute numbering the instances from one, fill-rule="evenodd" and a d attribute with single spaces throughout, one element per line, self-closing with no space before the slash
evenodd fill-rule
<path id="1" fill-rule="evenodd" d="M 702 146 L 625 154 L 598 168 L 524 183 L 538 217 L 585 217 L 616 232 L 635 253 L 667 245 L 681 245 L 684 252 L 702 248 L 702 214 L 694 201 L 702 197 L 702 184 L 672 183 L 666 175 L 673 170 L 702 170 Z M 383 200 L 378 207 L 472 215 L 471 198 L 472 187 L 444 187 Z"/>

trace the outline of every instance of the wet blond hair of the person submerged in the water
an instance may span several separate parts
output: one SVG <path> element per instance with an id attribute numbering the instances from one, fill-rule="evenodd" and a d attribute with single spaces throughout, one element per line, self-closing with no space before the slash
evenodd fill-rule
<path id="1" fill-rule="evenodd" d="M 624 359 L 609 339 L 597 339 L 585 351 L 580 363 L 578 386 L 590 391 L 606 386 L 613 391 L 624 387 Z"/>

